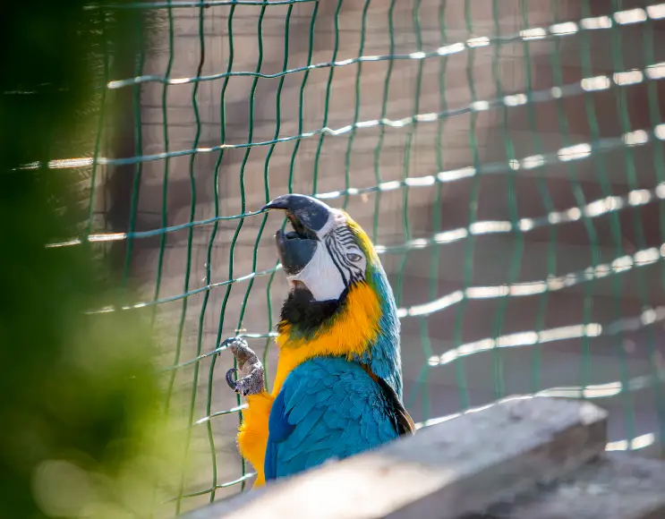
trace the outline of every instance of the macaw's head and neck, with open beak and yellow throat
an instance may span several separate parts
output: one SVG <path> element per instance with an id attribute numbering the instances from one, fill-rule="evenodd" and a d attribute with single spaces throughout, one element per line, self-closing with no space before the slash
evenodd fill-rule
<path id="1" fill-rule="evenodd" d="M 282 352 L 297 362 L 345 356 L 401 394 L 395 299 L 368 235 L 345 211 L 309 196 L 282 195 L 265 208 L 286 211 L 292 227 L 275 234 L 290 285 L 277 325 Z"/>

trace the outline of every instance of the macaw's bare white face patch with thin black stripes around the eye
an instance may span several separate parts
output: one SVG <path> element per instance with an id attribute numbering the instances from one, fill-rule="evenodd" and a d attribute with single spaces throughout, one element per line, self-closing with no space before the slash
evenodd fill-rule
<path id="1" fill-rule="evenodd" d="M 332 209 L 328 222 L 317 234 L 320 242 L 310 262 L 298 274 L 286 278 L 302 282 L 316 301 L 339 299 L 349 285 L 364 279 L 367 259 L 342 211 Z"/>

